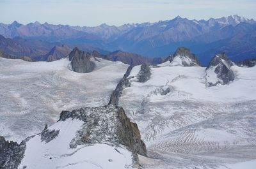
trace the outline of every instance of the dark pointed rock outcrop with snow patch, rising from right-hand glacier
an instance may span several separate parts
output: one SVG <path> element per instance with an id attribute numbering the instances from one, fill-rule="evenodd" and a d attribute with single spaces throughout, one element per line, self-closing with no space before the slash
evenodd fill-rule
<path id="1" fill-rule="evenodd" d="M 230 67 L 233 65 L 234 62 L 230 61 L 225 53 L 217 54 L 215 57 L 212 58 L 211 62 L 206 68 L 206 78 L 211 78 L 209 76 L 211 76 L 212 73 L 209 73 L 209 71 L 214 71 L 219 80 L 216 82 L 207 82 L 207 84 L 209 86 L 217 84 L 225 85 L 233 81 L 235 75 L 234 72 L 230 69 Z"/>

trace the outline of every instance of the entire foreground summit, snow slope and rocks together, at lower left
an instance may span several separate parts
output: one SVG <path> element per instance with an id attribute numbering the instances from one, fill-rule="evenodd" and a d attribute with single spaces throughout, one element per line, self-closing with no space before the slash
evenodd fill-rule
<path id="1" fill-rule="evenodd" d="M 45 126 L 42 133 L 27 138 L 20 145 L 0 137 L 0 168 L 58 168 L 65 163 L 74 167 L 83 163 L 84 167 L 90 168 L 93 152 L 89 150 L 95 149 L 99 153 L 102 151 L 100 147 L 105 148 L 104 152 L 110 149 L 107 154 L 102 152 L 104 156 L 100 158 L 106 158 L 108 163 L 117 160 L 115 156 L 111 158 L 111 153 L 120 156 L 120 160 L 124 158 L 125 164 L 121 168 L 138 166 L 138 154 L 147 156 L 138 126 L 130 121 L 123 108 L 113 105 L 84 107 L 61 112 L 56 124 L 49 128 Z M 92 156 L 85 160 L 86 154 L 90 153 Z M 79 158 L 83 162 L 79 162 Z M 115 164 L 113 168 L 116 168 Z"/>

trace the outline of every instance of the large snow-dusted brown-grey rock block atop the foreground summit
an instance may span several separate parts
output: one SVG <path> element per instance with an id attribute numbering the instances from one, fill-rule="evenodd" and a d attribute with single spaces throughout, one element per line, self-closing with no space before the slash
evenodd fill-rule
<path id="1" fill-rule="evenodd" d="M 70 147 L 85 143 L 122 144 L 134 154 L 147 156 L 147 149 L 141 140 L 137 124 L 130 121 L 121 107 L 109 105 L 85 107 L 72 112 L 63 111 L 59 121 L 68 118 L 84 121 L 83 128 L 77 131 L 78 137 L 72 140 Z"/>

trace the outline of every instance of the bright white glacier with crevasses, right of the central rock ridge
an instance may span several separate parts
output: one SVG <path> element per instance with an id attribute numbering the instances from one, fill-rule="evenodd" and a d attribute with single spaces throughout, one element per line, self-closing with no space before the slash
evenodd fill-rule
<path id="1" fill-rule="evenodd" d="M 169 62 L 151 66 L 138 82 L 140 66 L 122 91 L 122 106 L 138 124 L 149 158 L 145 168 L 255 168 L 256 66 L 232 66 L 228 85 L 207 87 L 205 68 Z"/>

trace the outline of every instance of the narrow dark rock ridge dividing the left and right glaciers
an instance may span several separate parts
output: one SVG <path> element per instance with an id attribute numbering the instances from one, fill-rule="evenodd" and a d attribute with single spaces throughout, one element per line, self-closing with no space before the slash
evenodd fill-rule
<path id="1" fill-rule="evenodd" d="M 127 68 L 127 71 L 125 72 L 124 77 L 116 85 L 115 91 L 113 91 L 113 93 L 111 94 L 108 105 L 116 105 L 117 106 L 118 105 L 118 99 L 120 98 L 120 96 L 122 94 L 122 90 L 125 87 L 129 87 L 131 85 L 129 80 L 127 79 L 127 77 L 130 75 L 132 68 L 133 68 L 133 66 L 129 66 Z"/>

